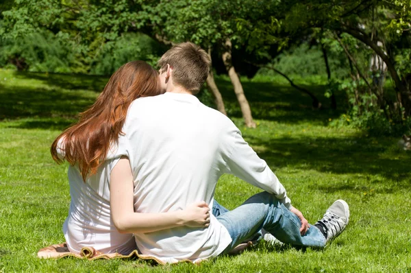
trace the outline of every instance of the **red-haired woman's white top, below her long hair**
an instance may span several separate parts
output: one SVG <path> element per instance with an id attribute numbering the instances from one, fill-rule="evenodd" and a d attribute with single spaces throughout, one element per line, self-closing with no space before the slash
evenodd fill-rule
<path id="1" fill-rule="evenodd" d="M 77 167 L 69 167 L 71 203 L 63 232 L 71 252 L 84 246 L 103 253 L 129 254 L 136 249 L 134 236 L 119 233 L 111 219 L 110 172 L 118 161 L 105 161 L 86 182 Z"/>

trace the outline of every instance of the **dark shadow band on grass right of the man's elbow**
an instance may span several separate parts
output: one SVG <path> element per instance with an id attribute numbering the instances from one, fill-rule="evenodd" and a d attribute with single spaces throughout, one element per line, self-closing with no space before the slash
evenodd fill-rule
<path id="1" fill-rule="evenodd" d="M 304 137 L 303 139 L 286 137 L 261 139 L 247 136 L 246 139 L 252 145 L 264 147 L 258 155 L 274 169 L 291 166 L 295 169 L 312 169 L 322 173 L 370 174 L 371 176 L 366 179 L 370 179 L 371 183 L 379 182 L 372 178 L 379 174 L 399 182 L 398 187 L 411 185 L 409 154 L 399 150 L 389 150 L 393 148 L 393 139 L 379 139 L 379 143 L 372 143 L 372 139 L 360 136 Z M 338 185 L 318 185 L 318 188 L 328 193 L 362 190 L 349 181 Z"/>

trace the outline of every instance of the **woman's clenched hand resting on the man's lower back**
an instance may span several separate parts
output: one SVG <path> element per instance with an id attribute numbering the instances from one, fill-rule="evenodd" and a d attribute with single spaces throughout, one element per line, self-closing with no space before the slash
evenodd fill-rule
<path id="1" fill-rule="evenodd" d="M 210 226 L 210 208 L 204 201 L 192 203 L 182 211 L 182 219 L 185 226 L 192 228 Z"/>

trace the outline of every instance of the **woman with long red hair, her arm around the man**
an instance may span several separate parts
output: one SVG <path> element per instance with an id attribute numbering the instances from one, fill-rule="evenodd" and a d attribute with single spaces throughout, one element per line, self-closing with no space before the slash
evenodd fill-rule
<path id="1" fill-rule="evenodd" d="M 141 233 L 174 226 L 208 226 L 210 209 L 205 202 L 191 204 L 183 211 L 134 213 L 133 206 L 119 208 L 121 194 L 110 198 L 110 175 L 112 179 L 111 171 L 121 160 L 116 150 L 121 148 L 119 136 L 127 109 L 139 97 L 159 94 L 158 72 L 145 62 L 128 62 L 112 75 L 95 104 L 51 145 L 57 163 L 70 163 L 71 204 L 63 231 L 71 252 L 91 246 L 103 253 L 129 254 L 136 249 L 134 237 L 120 233 L 119 226 L 123 232 L 127 230 L 123 227 L 128 227 Z M 115 178 L 124 179 L 121 174 Z"/>

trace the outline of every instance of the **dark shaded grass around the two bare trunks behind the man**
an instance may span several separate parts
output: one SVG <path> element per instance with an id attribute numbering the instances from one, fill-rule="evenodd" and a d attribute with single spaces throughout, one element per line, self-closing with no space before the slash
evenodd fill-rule
<path id="1" fill-rule="evenodd" d="M 225 100 L 229 116 L 242 117 L 231 82 L 218 79 L 217 84 Z M 345 93 L 336 94 L 339 103 L 337 110 L 330 108 L 329 99 L 324 97 L 326 86 L 323 85 L 304 86 L 312 91 L 323 104 L 321 109 L 313 109 L 311 98 L 292 86 L 275 84 L 274 82 L 247 81 L 242 82 L 242 86 L 255 119 L 284 123 L 305 121 L 326 123 L 329 117 L 338 117 L 347 110 Z"/>

